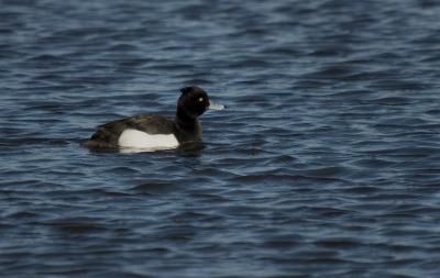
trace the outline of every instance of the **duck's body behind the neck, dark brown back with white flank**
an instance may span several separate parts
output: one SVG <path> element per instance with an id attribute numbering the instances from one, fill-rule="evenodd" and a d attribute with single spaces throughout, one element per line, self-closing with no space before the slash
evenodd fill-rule
<path id="1" fill-rule="evenodd" d="M 136 115 L 98 126 L 97 132 L 86 142 L 88 147 L 161 147 L 155 144 L 178 144 L 175 123 L 158 115 Z"/>

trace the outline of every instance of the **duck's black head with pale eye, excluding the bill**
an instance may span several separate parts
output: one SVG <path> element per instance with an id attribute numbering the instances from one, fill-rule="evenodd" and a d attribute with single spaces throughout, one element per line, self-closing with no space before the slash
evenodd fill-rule
<path id="1" fill-rule="evenodd" d="M 197 119 L 209 108 L 209 97 L 206 91 L 197 86 L 184 87 L 177 101 L 177 113 Z"/>

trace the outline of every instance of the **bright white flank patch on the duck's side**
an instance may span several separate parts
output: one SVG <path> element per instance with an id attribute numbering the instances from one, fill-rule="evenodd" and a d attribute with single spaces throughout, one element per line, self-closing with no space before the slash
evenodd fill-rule
<path id="1" fill-rule="evenodd" d="M 128 129 L 119 136 L 118 145 L 123 148 L 156 151 L 175 148 L 178 146 L 178 141 L 174 134 L 148 134 L 146 132 Z M 134 149 L 132 149 L 132 152 Z"/>

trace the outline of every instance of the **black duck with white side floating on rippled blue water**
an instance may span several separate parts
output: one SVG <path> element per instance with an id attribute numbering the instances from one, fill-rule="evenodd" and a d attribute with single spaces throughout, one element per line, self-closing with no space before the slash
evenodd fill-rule
<path id="1" fill-rule="evenodd" d="M 209 109 L 208 93 L 197 86 L 180 89 L 176 115 L 140 114 L 99 125 L 85 145 L 94 149 L 172 149 L 201 142 L 199 116 Z"/>

